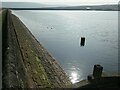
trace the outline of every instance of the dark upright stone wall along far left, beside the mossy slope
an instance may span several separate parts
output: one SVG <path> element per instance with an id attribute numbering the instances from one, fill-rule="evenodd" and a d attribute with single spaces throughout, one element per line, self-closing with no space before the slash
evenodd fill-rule
<path id="1" fill-rule="evenodd" d="M 6 11 L 5 23 L 2 28 L 3 34 L 3 59 L 2 59 L 2 81 L 3 88 L 25 88 L 28 87 L 27 76 L 20 53 L 20 48 L 15 37 L 14 27 L 10 14 Z"/>

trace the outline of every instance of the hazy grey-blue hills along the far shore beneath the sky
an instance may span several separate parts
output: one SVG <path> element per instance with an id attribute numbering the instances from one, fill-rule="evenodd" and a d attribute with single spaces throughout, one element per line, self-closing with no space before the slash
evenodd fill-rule
<path id="1" fill-rule="evenodd" d="M 16 10 L 105 10 L 118 11 L 118 5 L 57 6 L 30 2 L 2 2 L 3 8 Z"/>

